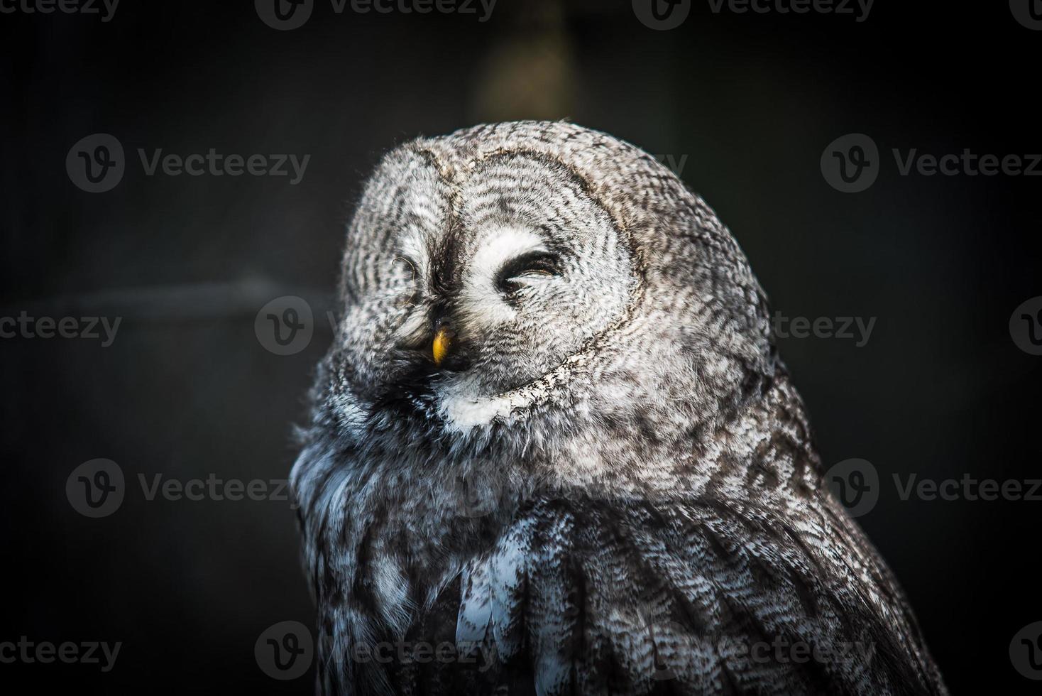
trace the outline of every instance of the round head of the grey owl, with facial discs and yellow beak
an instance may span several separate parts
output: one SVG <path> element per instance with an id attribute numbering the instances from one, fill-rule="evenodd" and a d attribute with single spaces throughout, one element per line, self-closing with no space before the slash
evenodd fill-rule
<path id="1" fill-rule="evenodd" d="M 387 154 L 350 222 L 323 417 L 359 437 L 702 422 L 774 369 L 737 244 L 665 167 L 561 122 Z"/>

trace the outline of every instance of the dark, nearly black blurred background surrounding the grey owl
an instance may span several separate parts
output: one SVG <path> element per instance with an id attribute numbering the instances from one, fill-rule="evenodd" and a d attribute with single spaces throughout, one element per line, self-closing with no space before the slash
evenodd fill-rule
<path id="1" fill-rule="evenodd" d="M 776 312 L 876 318 L 860 347 L 780 341 L 822 456 L 867 459 L 884 479 L 860 521 L 951 690 L 1037 693 L 1009 650 L 1042 621 L 1042 501 L 901 500 L 890 482 L 1042 475 L 1042 357 L 1009 328 L 1042 295 L 1042 179 L 901 176 L 890 154 L 1042 152 L 1042 31 L 1006 2 L 878 0 L 862 22 L 694 2 L 671 30 L 629 0 L 498 0 L 487 21 L 477 3 L 338 14 L 316 0 L 292 30 L 249 0 L 124 0 L 109 21 L 3 4 L 0 317 L 122 323 L 107 347 L 0 339 L 0 642 L 123 645 L 108 672 L 16 662 L 0 681 L 311 693 L 313 670 L 275 680 L 253 652 L 274 623 L 312 625 L 289 504 L 148 500 L 139 475 L 284 478 L 330 340 L 344 223 L 380 153 L 476 122 L 567 118 L 663 155 L 733 229 Z M 878 178 L 841 193 L 819 160 L 855 132 L 878 146 Z M 66 168 L 92 133 L 125 151 L 105 193 Z M 295 184 L 146 176 L 139 148 L 311 158 Z M 279 355 L 254 319 L 286 295 L 307 300 L 314 337 Z M 90 519 L 66 483 L 99 457 L 126 494 Z"/>

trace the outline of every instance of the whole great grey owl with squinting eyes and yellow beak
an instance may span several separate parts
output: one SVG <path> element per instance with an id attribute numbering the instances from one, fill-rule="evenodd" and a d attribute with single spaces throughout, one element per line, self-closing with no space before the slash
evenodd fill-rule
<path id="1" fill-rule="evenodd" d="M 742 251 L 650 155 L 403 145 L 340 296 L 292 473 L 321 693 L 946 693 Z"/>

